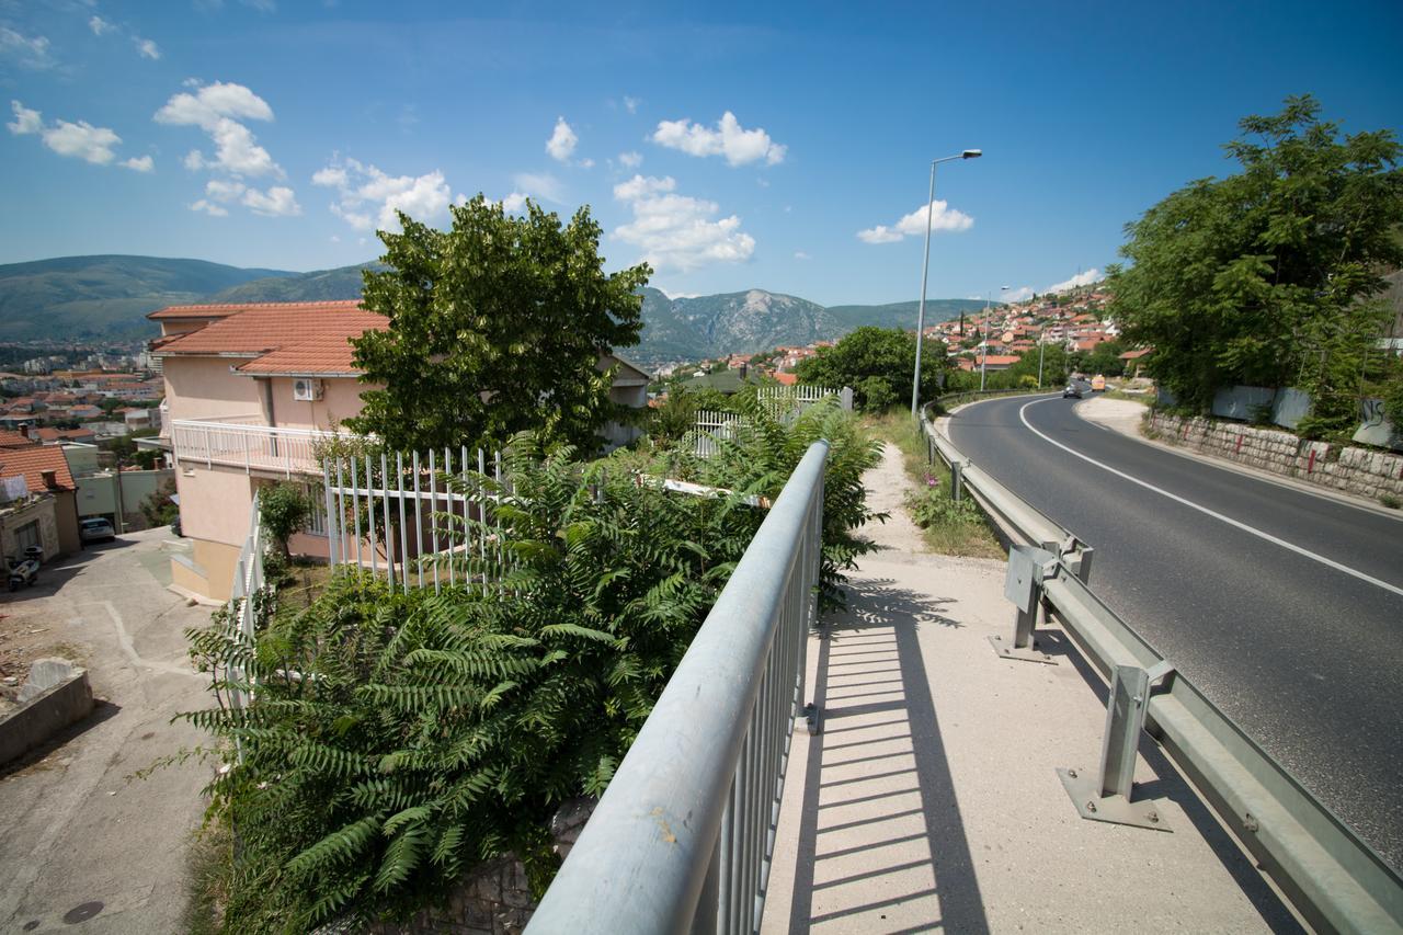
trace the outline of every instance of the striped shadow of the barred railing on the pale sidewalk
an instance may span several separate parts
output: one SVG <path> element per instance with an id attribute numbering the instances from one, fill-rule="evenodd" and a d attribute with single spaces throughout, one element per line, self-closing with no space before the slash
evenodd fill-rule
<path id="1" fill-rule="evenodd" d="M 887 580 L 847 599 L 819 633 L 788 931 L 988 932 L 916 636 L 960 623 Z"/>

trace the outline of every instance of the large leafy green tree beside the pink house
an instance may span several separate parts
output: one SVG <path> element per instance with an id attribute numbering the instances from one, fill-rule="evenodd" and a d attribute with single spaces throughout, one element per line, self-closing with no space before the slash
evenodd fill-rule
<path id="1" fill-rule="evenodd" d="M 348 425 L 398 449 L 497 446 L 543 430 L 582 449 L 619 410 L 598 361 L 638 343 L 647 264 L 606 275 L 599 225 L 581 208 L 565 225 L 528 202 L 513 218 L 478 195 L 452 208 L 449 230 L 404 213 L 380 232 L 383 272 L 365 272 L 365 307 L 384 331 L 354 340 L 365 372 Z"/>

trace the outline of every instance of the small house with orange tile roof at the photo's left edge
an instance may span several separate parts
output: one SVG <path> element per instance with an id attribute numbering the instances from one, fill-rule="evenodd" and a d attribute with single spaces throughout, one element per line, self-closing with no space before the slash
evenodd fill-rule
<path id="1" fill-rule="evenodd" d="M 48 560 L 83 548 L 77 484 L 62 448 L 34 444 L 0 448 L 0 490 L 6 501 L 0 552 L 13 556 L 36 545 Z"/>

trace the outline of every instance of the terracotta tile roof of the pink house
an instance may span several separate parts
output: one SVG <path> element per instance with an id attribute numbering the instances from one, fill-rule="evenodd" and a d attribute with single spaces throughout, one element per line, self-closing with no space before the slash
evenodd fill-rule
<path id="1" fill-rule="evenodd" d="M 187 306 L 192 307 L 192 306 Z M 349 340 L 384 330 L 384 316 L 359 302 L 276 302 L 233 309 L 198 331 L 175 336 L 157 355 L 243 355 L 243 373 L 355 373 Z"/>

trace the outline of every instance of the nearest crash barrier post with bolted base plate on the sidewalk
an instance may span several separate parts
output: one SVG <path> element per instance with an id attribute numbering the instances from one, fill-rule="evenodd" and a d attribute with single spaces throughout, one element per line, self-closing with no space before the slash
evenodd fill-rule
<path id="1" fill-rule="evenodd" d="M 1101 741 L 1100 775 L 1079 769 L 1058 769 L 1062 786 L 1083 818 L 1129 824 L 1153 831 L 1172 831 L 1153 800 L 1132 802 L 1135 757 L 1150 687 L 1174 671 L 1167 661 L 1152 668 L 1117 665 L 1106 705 L 1106 737 Z"/>

